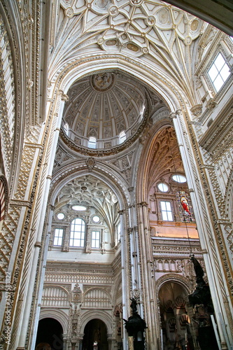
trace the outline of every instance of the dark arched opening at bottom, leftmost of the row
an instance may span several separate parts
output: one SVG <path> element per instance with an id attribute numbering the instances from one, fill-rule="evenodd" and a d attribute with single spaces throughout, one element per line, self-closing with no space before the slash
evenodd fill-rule
<path id="1" fill-rule="evenodd" d="M 36 350 L 63 350 L 62 325 L 54 318 L 43 318 L 38 323 Z"/>

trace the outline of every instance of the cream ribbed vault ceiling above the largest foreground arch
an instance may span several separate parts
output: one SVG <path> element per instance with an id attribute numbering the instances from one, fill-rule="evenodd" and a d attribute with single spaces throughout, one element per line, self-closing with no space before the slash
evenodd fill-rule
<path id="1" fill-rule="evenodd" d="M 197 104 L 193 62 L 202 20 L 160 0 L 61 0 L 54 18 L 51 79 L 87 55 L 132 57 L 182 87 Z"/>

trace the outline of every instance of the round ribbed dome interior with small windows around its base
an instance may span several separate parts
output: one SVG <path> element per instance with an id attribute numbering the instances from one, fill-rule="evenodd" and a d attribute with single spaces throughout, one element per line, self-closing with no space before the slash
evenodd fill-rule
<path id="1" fill-rule="evenodd" d="M 67 94 L 63 130 L 69 140 L 80 146 L 117 146 L 136 133 L 145 114 L 146 85 L 121 71 L 85 76 Z M 160 103 L 157 96 L 155 101 Z M 88 144 L 90 138 L 96 140 L 96 145 Z"/>

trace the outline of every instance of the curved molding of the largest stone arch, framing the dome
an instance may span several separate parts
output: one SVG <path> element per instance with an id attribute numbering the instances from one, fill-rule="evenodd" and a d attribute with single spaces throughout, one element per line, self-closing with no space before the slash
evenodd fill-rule
<path id="1" fill-rule="evenodd" d="M 50 73 L 50 99 L 53 99 L 53 95 L 58 91 L 66 94 L 71 85 L 84 76 L 111 69 L 125 71 L 125 73 L 132 74 L 135 78 L 146 83 L 167 102 L 171 112 L 179 109 L 181 100 L 185 99 L 181 90 L 177 90 L 178 87 L 171 83 L 169 77 L 157 73 L 156 67 L 136 61 L 133 57 L 106 54 L 79 57 L 66 66 L 62 66 L 62 69 L 55 74 Z M 60 113 L 63 113 L 63 107 Z"/>

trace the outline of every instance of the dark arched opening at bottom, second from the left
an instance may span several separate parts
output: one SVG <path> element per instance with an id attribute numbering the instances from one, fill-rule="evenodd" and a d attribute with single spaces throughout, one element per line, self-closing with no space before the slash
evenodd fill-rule
<path id="1" fill-rule="evenodd" d="M 83 350 L 108 350 L 107 328 L 103 321 L 94 318 L 84 328 Z"/>

